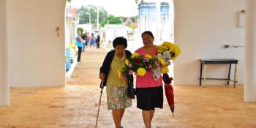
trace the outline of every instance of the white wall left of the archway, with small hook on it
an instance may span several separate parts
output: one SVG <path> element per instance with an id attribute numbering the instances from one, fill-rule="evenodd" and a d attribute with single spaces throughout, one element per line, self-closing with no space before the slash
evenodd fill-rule
<path id="1" fill-rule="evenodd" d="M 65 1 L 8 0 L 7 7 L 10 86 L 64 86 Z"/>

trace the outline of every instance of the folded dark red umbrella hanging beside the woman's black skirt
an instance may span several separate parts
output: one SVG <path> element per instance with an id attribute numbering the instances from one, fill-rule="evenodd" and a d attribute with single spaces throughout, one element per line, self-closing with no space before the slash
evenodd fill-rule
<path id="1" fill-rule="evenodd" d="M 173 86 L 170 84 L 172 83 L 173 78 L 169 77 L 167 73 L 162 75 L 162 80 L 165 82 L 165 96 L 167 102 L 169 104 L 170 110 L 174 116 L 174 94 L 173 94 Z"/>

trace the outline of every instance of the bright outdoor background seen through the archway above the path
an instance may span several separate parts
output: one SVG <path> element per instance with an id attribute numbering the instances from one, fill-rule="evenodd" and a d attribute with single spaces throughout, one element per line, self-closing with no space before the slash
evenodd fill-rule
<path id="1" fill-rule="evenodd" d="M 115 6 L 113 3 L 116 3 Z M 67 17 L 67 15 L 69 16 Z M 122 36 L 128 39 L 127 50 L 134 52 L 143 46 L 140 35 L 147 30 L 154 34 L 155 45 L 164 41 L 173 42 L 173 0 L 159 0 L 157 2 L 151 0 L 74 0 L 70 3 L 67 2 L 67 18 L 69 18 L 66 20 L 66 51 L 69 50 L 67 51 L 69 52 L 67 55 L 69 56 L 68 68 L 71 68 L 75 62 L 77 48 L 74 37 L 78 29 L 82 29 L 81 33 L 88 33 L 90 36 L 97 32 L 102 37 L 100 45 L 108 50 L 113 49 L 113 39 Z M 86 46 L 90 48 L 89 44 Z M 66 64 L 66 69 L 68 68 Z M 169 70 L 169 75 L 173 76 L 173 64 Z M 68 75 L 68 78 L 71 74 Z"/>

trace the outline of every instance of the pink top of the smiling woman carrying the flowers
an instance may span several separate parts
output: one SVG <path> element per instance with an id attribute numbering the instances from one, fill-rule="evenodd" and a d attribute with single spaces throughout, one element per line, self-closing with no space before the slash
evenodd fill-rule
<path id="1" fill-rule="evenodd" d="M 143 47 L 136 50 L 135 53 L 139 53 L 142 56 L 146 55 L 146 51 L 143 49 Z M 157 56 L 157 50 L 154 51 L 153 53 L 150 53 L 149 55 Z M 138 75 L 136 77 L 137 88 L 151 88 L 151 87 L 157 87 L 157 86 L 162 86 L 162 77 L 159 77 L 158 80 L 154 80 L 153 72 L 151 71 L 147 71 L 146 75 L 143 77 Z"/>

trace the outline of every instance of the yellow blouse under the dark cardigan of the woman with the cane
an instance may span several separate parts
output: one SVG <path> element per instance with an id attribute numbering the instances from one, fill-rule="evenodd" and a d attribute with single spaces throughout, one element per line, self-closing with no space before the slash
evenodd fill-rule
<path id="1" fill-rule="evenodd" d="M 108 73 L 108 80 L 107 86 L 114 86 L 114 87 L 125 87 L 127 86 L 127 79 L 120 79 L 118 78 L 118 69 L 124 64 L 124 60 L 126 59 L 125 53 L 124 56 L 118 59 L 118 56 L 115 53 L 115 56 L 110 65 L 110 71 Z"/>

